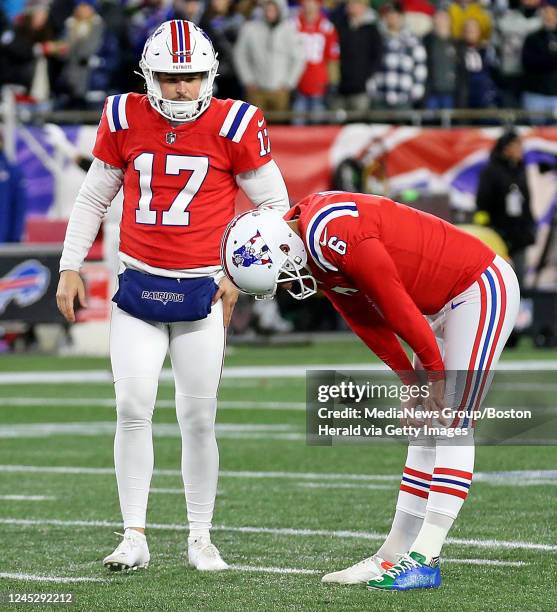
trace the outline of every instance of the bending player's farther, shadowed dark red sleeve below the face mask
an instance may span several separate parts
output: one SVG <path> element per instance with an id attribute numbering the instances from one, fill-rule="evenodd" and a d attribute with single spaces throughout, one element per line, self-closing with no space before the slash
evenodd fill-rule
<path id="1" fill-rule="evenodd" d="M 342 298 L 328 293 L 327 297 L 350 329 L 398 374 L 404 384 L 417 382 L 414 368 L 398 338 L 371 305 L 364 309 L 355 296 Z"/>

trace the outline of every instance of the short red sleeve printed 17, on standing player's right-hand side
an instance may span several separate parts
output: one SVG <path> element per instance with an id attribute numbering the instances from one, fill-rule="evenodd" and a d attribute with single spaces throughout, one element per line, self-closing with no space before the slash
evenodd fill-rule
<path id="1" fill-rule="evenodd" d="M 230 141 L 229 146 L 234 174 L 255 170 L 271 161 L 271 141 L 261 109 L 256 108 L 239 142 Z"/>

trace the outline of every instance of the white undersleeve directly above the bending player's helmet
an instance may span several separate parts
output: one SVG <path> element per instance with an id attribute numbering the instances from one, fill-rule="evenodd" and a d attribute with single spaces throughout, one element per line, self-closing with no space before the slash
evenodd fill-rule
<path id="1" fill-rule="evenodd" d="M 290 208 L 288 189 L 274 160 L 256 170 L 236 175 L 236 183 L 257 207 L 272 208 L 281 215 Z"/>

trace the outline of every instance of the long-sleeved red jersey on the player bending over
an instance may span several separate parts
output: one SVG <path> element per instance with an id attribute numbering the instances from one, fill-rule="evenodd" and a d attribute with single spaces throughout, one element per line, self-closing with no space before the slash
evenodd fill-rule
<path id="1" fill-rule="evenodd" d="M 423 316 L 474 283 L 495 253 L 438 217 L 379 196 L 318 193 L 285 215 L 299 218 L 308 265 L 352 330 L 405 382 L 405 340 L 431 372 L 444 370 Z"/>

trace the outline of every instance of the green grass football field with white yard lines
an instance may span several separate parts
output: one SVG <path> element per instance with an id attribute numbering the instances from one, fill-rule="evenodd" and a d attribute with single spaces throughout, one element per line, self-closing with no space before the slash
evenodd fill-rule
<path id="1" fill-rule="evenodd" d="M 523 347 L 504 358 L 553 360 L 557 353 Z M 358 342 L 232 347 L 226 367 L 371 360 Z M 151 565 L 107 573 L 101 560 L 121 530 L 108 376 L 95 383 L 85 375 L 72 383 L 33 376 L 16 382 L 16 373 L 85 370 L 108 372 L 108 360 L 0 359 L 0 598 L 71 591 L 74 609 L 110 611 L 557 608 L 555 447 L 478 449 L 478 478 L 443 551 L 438 591 L 322 585 L 323 573 L 381 543 L 405 448 L 308 446 L 304 378 L 262 370 L 225 377 L 221 386 L 213 541 L 234 569 L 203 574 L 186 564 L 180 438 L 173 386 L 162 382 L 148 514 Z M 4 599 L 0 609 L 9 608 Z"/>

